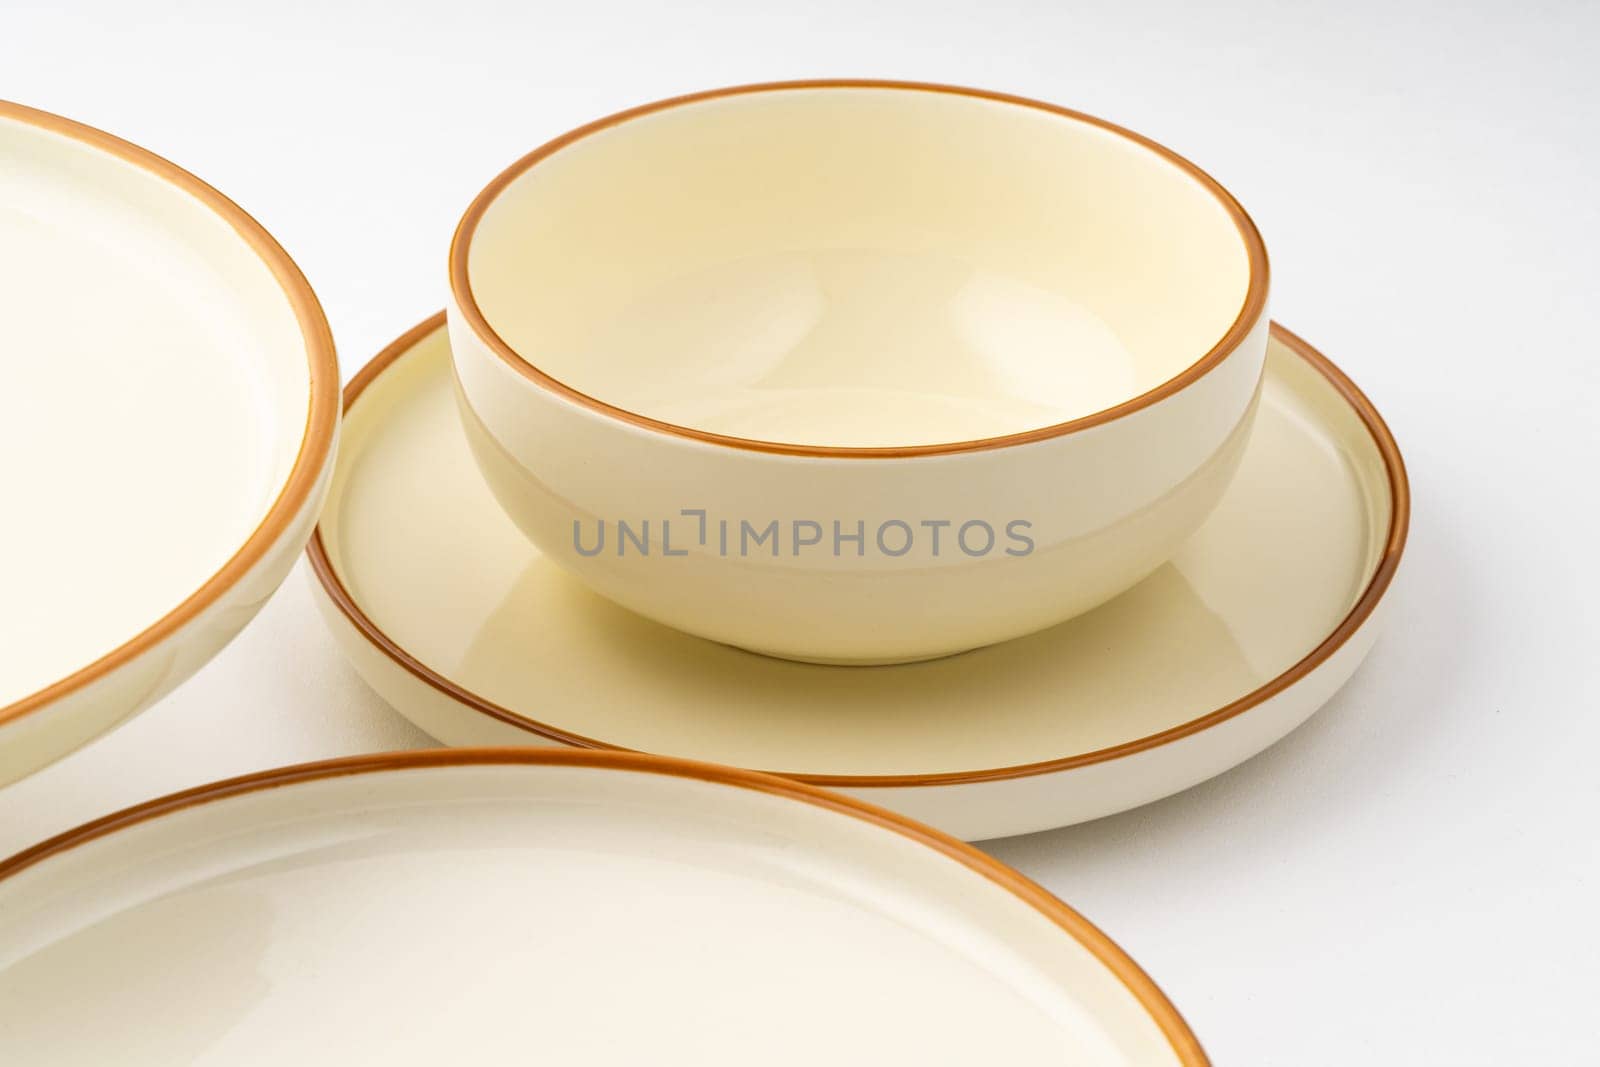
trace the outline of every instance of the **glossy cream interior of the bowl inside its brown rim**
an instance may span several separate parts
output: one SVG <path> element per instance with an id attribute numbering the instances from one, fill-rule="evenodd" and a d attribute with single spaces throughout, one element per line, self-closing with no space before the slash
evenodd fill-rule
<path id="1" fill-rule="evenodd" d="M 1248 221 L 1192 170 L 1043 107 L 789 88 L 568 139 L 469 235 L 528 363 L 678 427 L 915 446 L 1104 411 L 1246 301 Z"/>

